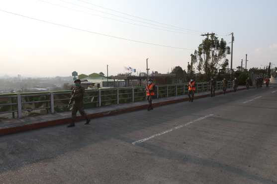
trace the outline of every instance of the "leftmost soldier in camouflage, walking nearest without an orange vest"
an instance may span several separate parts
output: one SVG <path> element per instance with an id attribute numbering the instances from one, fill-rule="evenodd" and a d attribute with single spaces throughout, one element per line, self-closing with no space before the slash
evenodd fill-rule
<path id="1" fill-rule="evenodd" d="M 75 126 L 77 111 L 79 111 L 79 113 L 86 118 L 87 122 L 85 124 L 89 124 L 91 121 L 88 118 L 88 115 L 84 111 L 83 98 L 84 98 L 85 88 L 81 86 L 80 79 L 75 80 L 74 83 L 76 87 L 73 88 L 71 93 L 71 98 L 70 98 L 70 102 L 73 102 L 73 108 L 72 108 L 72 114 L 71 114 L 72 122 L 67 127 Z"/>

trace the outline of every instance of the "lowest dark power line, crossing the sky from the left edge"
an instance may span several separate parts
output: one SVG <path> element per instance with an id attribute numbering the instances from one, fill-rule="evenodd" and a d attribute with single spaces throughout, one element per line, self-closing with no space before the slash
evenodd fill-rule
<path id="1" fill-rule="evenodd" d="M 54 23 L 54 22 L 49 22 L 49 21 L 46 21 L 46 20 L 41 20 L 41 19 L 37 19 L 37 18 L 33 18 L 33 17 L 21 15 L 21 14 L 18 14 L 18 13 L 13 13 L 13 12 L 6 11 L 6 10 L 2 10 L 2 9 L 0 9 L 0 11 L 5 12 L 5 13 L 9 13 L 9 14 L 13 14 L 13 15 L 17 15 L 17 16 L 21 16 L 21 17 L 24 17 L 24 18 L 32 19 L 32 20 L 37 20 L 37 21 L 40 21 L 40 22 L 48 23 L 48 24 L 53 24 L 53 25 L 57 25 L 57 26 L 61 26 L 61 27 L 66 27 L 66 28 L 70 28 L 70 29 L 74 29 L 74 30 L 78 30 L 78 31 L 88 32 L 88 33 L 92 33 L 92 34 L 107 36 L 107 37 L 111 37 L 111 38 L 116 38 L 116 39 L 121 39 L 121 40 L 127 40 L 127 41 L 131 41 L 131 42 L 137 42 L 137 43 L 148 44 L 148 45 L 155 45 L 155 46 L 160 46 L 160 47 L 173 48 L 173 49 L 194 50 L 194 49 L 187 49 L 187 48 L 180 48 L 180 47 L 172 47 L 172 46 L 161 45 L 161 44 L 153 44 L 153 43 L 150 43 L 150 42 L 144 42 L 144 41 L 139 41 L 139 40 L 131 40 L 131 39 L 127 39 L 127 38 L 122 38 L 122 37 L 117 37 L 117 36 L 106 35 L 106 34 L 103 34 L 103 33 L 93 32 L 93 31 L 89 31 L 89 30 L 85 30 L 85 29 L 80 29 L 80 28 L 75 28 L 75 27 L 63 25 L 63 24 L 58 24 L 58 23 Z"/>

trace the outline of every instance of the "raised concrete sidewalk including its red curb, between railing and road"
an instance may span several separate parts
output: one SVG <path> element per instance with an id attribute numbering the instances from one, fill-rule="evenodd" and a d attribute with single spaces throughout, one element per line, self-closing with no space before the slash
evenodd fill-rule
<path id="1" fill-rule="evenodd" d="M 246 87 L 239 86 L 238 90 L 244 90 Z M 227 93 L 232 92 L 232 89 L 227 89 Z M 223 94 L 222 90 L 217 90 L 216 95 Z M 196 93 L 194 99 L 209 97 L 210 92 Z M 187 95 L 175 96 L 169 98 L 161 98 L 153 100 L 153 106 L 159 107 L 164 105 L 169 105 L 173 103 L 179 103 L 188 101 Z M 119 104 L 104 106 L 93 109 L 86 109 L 86 112 L 90 119 L 100 118 L 105 116 L 112 116 L 121 113 L 127 113 L 132 111 L 138 111 L 147 109 L 148 102 L 141 101 L 135 103 Z M 82 117 L 77 117 L 77 122 L 83 120 Z M 40 115 L 35 117 L 26 117 L 22 119 L 7 119 L 0 120 L 0 136 L 7 135 L 11 133 L 17 133 L 22 131 L 34 130 L 43 127 L 49 127 L 60 124 L 67 124 L 71 121 L 71 112 L 55 113 L 48 115 Z"/>

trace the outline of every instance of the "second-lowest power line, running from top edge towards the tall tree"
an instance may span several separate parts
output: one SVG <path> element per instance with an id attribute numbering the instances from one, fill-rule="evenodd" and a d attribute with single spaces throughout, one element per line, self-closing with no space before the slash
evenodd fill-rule
<path id="1" fill-rule="evenodd" d="M 171 31 L 171 30 L 167 30 L 167 29 L 160 29 L 160 28 L 151 27 L 151 26 L 146 26 L 146 25 L 142 25 L 142 24 L 136 24 L 136 23 L 126 22 L 126 21 L 122 21 L 122 20 L 119 20 L 119 19 L 115 19 L 115 18 L 110 18 L 110 17 L 106 17 L 106 16 L 101 16 L 101 15 L 97 15 L 97 14 L 92 14 L 92 13 L 89 13 L 89 12 L 86 12 L 86 11 L 81 11 L 81 10 L 78 10 L 78 9 L 73 9 L 73 8 L 70 8 L 70 7 L 67 7 L 67 6 L 63 6 L 63 5 L 60 5 L 60 4 L 55 4 L 55 3 L 48 2 L 48 1 L 45 1 L 45 0 L 39 0 L 39 1 L 44 2 L 44 3 L 51 4 L 51 5 L 59 6 L 59 7 L 62 7 L 62 8 L 70 9 L 70 10 L 73 10 L 73 11 L 82 12 L 82 13 L 87 13 L 87 14 L 90 14 L 90 15 L 93 15 L 93 16 L 99 16 L 99 17 L 102 17 L 102 18 L 111 19 L 111 20 L 115 20 L 115 21 L 119 21 L 119 22 L 123 22 L 123 23 L 127 23 L 127 24 L 136 25 L 136 26 L 142 26 L 142 27 L 147 27 L 147 28 L 156 29 L 156 30 L 162 30 L 162 31 L 168 31 L 168 32 L 173 32 L 173 33 L 180 33 L 180 34 L 188 34 L 188 35 L 199 36 L 199 35 L 193 34 L 193 33 Z"/>

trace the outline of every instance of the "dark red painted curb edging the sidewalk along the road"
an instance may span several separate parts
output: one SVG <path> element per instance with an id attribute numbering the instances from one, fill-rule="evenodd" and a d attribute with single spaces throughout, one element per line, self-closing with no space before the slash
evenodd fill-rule
<path id="1" fill-rule="evenodd" d="M 245 88 L 240 88 L 238 91 L 245 90 Z M 226 93 L 233 92 L 233 90 L 228 90 Z M 215 95 L 221 95 L 223 92 L 217 92 Z M 200 98 L 206 98 L 209 97 L 209 94 L 205 95 L 199 95 L 195 96 L 194 99 L 200 99 Z M 180 102 L 185 102 L 188 101 L 188 98 L 181 98 L 181 99 L 175 99 L 175 100 L 168 100 L 165 102 L 157 102 L 153 103 L 154 107 L 161 107 L 165 105 L 170 105 L 170 104 L 175 104 L 175 103 L 180 103 Z M 128 113 L 128 112 L 134 112 L 134 111 L 139 111 L 139 110 L 144 110 L 147 109 L 148 105 L 140 105 L 136 107 L 131 107 L 131 108 L 125 108 L 125 109 L 117 109 L 113 111 L 106 111 L 106 112 L 101 112 L 101 113 L 94 113 L 94 114 L 88 114 L 88 117 L 90 119 L 96 119 L 96 118 L 102 118 L 106 116 L 115 116 L 123 113 Z M 83 117 L 79 116 L 77 117 L 76 122 L 80 122 L 84 120 Z M 33 123 L 33 124 L 26 124 L 22 126 L 16 126 L 16 127 L 7 127 L 7 128 L 2 128 L 0 129 L 0 136 L 3 135 L 8 135 L 12 133 L 18 133 L 18 132 L 24 132 L 24 131 L 29 131 L 29 130 L 35 130 L 39 128 L 45 128 L 45 127 L 50 127 L 50 126 L 55 126 L 55 125 L 62 125 L 62 124 L 68 124 L 71 121 L 71 118 L 64 118 L 64 119 L 58 119 L 58 120 L 52 120 L 52 121 L 47 121 L 47 122 L 40 122 L 40 123 Z"/>

